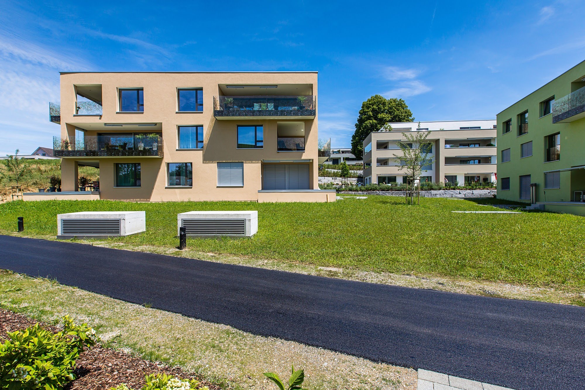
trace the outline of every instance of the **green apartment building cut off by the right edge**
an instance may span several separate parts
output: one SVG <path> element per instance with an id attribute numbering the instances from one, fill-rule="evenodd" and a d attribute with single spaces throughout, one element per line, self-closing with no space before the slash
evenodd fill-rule
<path id="1" fill-rule="evenodd" d="M 585 215 L 585 61 L 500 112 L 497 124 L 498 199 Z"/>

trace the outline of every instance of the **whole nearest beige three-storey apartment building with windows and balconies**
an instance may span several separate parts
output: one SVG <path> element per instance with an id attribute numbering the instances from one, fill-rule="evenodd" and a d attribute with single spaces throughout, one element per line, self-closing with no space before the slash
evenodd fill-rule
<path id="1" fill-rule="evenodd" d="M 60 84 L 61 197 L 335 201 L 318 186 L 316 72 L 63 72 Z M 94 191 L 80 166 L 99 168 Z"/>

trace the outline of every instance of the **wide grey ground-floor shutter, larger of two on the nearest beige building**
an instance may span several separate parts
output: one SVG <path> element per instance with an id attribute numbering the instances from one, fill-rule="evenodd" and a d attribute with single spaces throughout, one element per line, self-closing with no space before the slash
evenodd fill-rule
<path id="1" fill-rule="evenodd" d="M 308 190 L 308 164 L 264 165 L 264 190 Z"/>

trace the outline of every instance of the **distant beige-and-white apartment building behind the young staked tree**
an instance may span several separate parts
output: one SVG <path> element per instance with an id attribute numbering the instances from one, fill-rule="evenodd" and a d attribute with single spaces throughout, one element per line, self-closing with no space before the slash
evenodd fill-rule
<path id="1" fill-rule="evenodd" d="M 363 143 L 364 183 L 405 182 L 407 173 L 394 155 L 401 154 L 397 142 L 406 141 L 402 133 L 415 131 L 431 132 L 432 163 L 423 167 L 421 182 L 495 182 L 495 124 L 495 119 L 390 123 L 390 131 L 373 132 Z"/>

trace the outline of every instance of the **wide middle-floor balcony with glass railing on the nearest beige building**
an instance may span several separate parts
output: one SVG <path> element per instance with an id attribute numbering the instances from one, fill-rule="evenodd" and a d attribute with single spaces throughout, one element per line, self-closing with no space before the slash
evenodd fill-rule
<path id="1" fill-rule="evenodd" d="M 53 137 L 55 157 L 163 157 L 158 133 Z"/>

